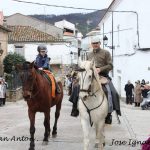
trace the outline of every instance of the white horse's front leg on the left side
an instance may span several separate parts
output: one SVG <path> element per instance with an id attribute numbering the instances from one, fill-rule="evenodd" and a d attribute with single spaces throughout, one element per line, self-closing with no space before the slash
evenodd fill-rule
<path id="1" fill-rule="evenodd" d="M 89 149 L 89 135 L 90 135 L 90 123 L 86 119 L 81 118 L 81 125 L 83 129 L 83 136 L 84 136 L 84 150 Z"/>

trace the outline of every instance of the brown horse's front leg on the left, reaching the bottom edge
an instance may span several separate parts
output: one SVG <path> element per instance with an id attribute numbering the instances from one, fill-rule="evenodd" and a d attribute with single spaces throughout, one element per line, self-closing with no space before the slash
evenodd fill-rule
<path id="1" fill-rule="evenodd" d="M 35 112 L 28 110 L 28 115 L 30 119 L 30 148 L 29 150 L 34 150 L 34 133 L 35 133 Z"/>

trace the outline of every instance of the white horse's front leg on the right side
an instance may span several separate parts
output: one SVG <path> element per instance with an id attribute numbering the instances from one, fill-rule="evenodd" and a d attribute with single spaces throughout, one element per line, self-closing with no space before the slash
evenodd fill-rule
<path id="1" fill-rule="evenodd" d="M 103 150 L 103 146 L 105 145 L 104 125 L 105 120 L 101 120 L 101 122 L 96 125 L 96 140 L 98 143 L 95 144 L 95 147 L 99 148 L 99 150 Z"/>

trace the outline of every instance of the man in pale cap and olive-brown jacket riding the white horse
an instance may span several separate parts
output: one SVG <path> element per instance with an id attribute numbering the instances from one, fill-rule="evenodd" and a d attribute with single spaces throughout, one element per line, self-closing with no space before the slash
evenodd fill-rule
<path id="1" fill-rule="evenodd" d="M 108 83 L 103 85 L 105 93 L 107 93 L 108 98 L 108 115 L 106 117 L 105 123 L 112 123 L 112 111 L 116 110 L 117 115 L 121 115 L 120 112 L 120 102 L 119 95 L 115 90 L 111 78 L 109 77 L 109 72 L 113 69 L 112 58 L 110 53 L 107 50 L 101 48 L 101 42 L 98 37 L 94 37 L 91 39 L 92 51 L 88 54 L 88 60 L 95 61 L 95 66 L 97 72 L 100 76 L 106 77 Z"/>

